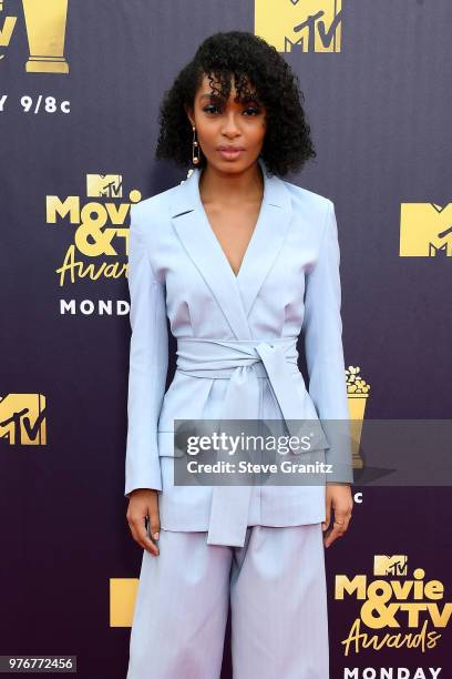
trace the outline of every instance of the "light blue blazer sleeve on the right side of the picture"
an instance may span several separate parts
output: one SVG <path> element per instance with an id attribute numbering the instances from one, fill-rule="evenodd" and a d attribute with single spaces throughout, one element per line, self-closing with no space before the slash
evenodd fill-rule
<path id="1" fill-rule="evenodd" d="M 342 346 L 340 251 L 333 203 L 328 200 L 318 261 L 306 276 L 305 336 L 309 395 L 326 432 L 332 464 L 327 483 L 353 480 L 350 412 Z"/>

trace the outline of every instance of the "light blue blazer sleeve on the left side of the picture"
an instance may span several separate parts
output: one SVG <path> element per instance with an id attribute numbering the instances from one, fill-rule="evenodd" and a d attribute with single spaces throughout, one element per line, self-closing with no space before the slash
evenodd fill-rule
<path id="1" fill-rule="evenodd" d="M 132 328 L 129 362 L 125 497 L 162 490 L 158 417 L 168 367 L 165 290 L 154 276 L 143 225 L 131 205 L 127 281 Z"/>

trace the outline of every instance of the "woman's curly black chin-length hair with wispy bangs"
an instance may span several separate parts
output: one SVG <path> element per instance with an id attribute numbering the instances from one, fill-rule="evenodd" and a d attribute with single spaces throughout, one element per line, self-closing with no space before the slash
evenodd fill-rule
<path id="1" fill-rule="evenodd" d="M 247 82 L 266 107 L 266 133 L 260 156 L 267 170 L 280 176 L 297 171 L 316 156 L 310 128 L 301 102 L 298 77 L 275 47 L 247 31 L 210 36 L 198 47 L 193 60 L 177 74 L 160 107 L 156 159 L 170 159 L 182 168 L 193 168 L 193 130 L 185 107 L 194 108 L 195 94 L 204 75 L 226 100 L 234 74 L 237 97 L 246 97 Z M 217 88 L 213 83 L 219 83 Z M 205 156 L 196 168 L 206 164 Z"/>

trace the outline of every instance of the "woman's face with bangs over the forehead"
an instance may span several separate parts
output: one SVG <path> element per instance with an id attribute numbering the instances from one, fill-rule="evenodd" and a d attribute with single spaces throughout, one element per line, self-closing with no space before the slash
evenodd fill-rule
<path id="1" fill-rule="evenodd" d="M 255 90 L 249 87 L 253 92 Z M 265 108 L 257 99 L 234 101 L 237 92 L 234 78 L 229 99 L 225 101 L 212 90 L 204 75 L 195 95 L 194 111 L 187 111 L 207 163 L 222 172 L 242 172 L 256 162 L 264 144 Z M 234 151 L 227 152 L 227 148 Z"/>

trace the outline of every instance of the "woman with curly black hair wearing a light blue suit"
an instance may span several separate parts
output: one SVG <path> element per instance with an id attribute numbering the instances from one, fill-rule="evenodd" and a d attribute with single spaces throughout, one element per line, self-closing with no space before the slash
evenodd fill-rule
<path id="1" fill-rule="evenodd" d="M 205 40 L 162 104 L 157 158 L 193 172 L 131 207 L 127 679 L 218 678 L 229 601 L 235 679 L 328 677 L 323 545 L 351 516 L 349 449 L 314 437 L 326 485 L 173 479 L 174 419 L 348 419 L 333 204 L 280 179 L 315 155 L 296 77 L 251 33 Z"/>

